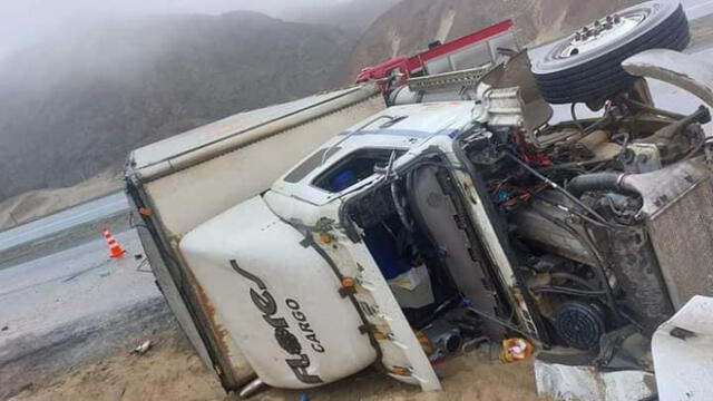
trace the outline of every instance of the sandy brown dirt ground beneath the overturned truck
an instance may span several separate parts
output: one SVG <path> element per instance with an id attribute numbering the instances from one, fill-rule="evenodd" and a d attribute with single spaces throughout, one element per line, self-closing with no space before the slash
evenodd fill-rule
<path id="1" fill-rule="evenodd" d="M 45 384 L 30 384 L 12 401 L 227 401 L 211 373 L 177 331 L 157 335 L 144 355 L 127 353 L 69 369 Z M 291 401 L 528 401 L 535 394 L 531 364 L 502 364 L 487 346 L 438 368 L 443 392 L 422 393 L 373 370 L 310 391 L 267 390 L 252 400 Z"/>

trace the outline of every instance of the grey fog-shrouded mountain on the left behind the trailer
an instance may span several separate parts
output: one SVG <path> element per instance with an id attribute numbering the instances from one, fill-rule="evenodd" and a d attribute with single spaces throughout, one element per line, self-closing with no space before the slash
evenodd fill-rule
<path id="1" fill-rule="evenodd" d="M 331 86 L 353 39 L 254 12 L 107 21 L 0 63 L 0 200 L 141 145 Z"/>

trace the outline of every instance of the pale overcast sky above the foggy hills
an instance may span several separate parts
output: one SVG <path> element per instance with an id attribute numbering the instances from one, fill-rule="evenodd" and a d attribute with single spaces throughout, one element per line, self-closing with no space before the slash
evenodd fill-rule
<path id="1" fill-rule="evenodd" d="M 254 10 L 279 16 L 285 8 L 345 0 L 0 0 L 0 56 L 31 45 L 48 32 L 105 16 L 222 13 Z"/>

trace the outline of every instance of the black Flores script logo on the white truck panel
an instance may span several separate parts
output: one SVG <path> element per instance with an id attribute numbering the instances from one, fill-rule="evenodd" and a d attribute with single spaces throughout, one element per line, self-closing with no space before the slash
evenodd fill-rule
<path id="1" fill-rule="evenodd" d="M 255 307 L 263 313 L 265 322 L 275 330 L 275 340 L 280 348 L 285 350 L 290 355 L 294 355 L 294 358 L 286 359 L 285 363 L 292 369 L 295 378 L 306 384 L 322 383 L 322 379 L 319 375 L 307 373 L 310 356 L 302 353 L 302 344 L 297 336 L 290 332 L 287 321 L 284 317 L 275 317 L 277 314 L 277 303 L 267 291 L 265 283 L 256 275 L 241 268 L 235 261 L 231 261 L 231 266 L 233 266 L 233 270 L 240 275 L 252 281 L 260 290 L 258 293 L 255 288 L 250 288 L 250 297 Z M 299 305 L 294 300 L 290 300 L 289 302 Z M 312 348 L 314 349 L 314 345 Z M 322 349 L 321 352 L 324 352 L 324 349 Z"/>

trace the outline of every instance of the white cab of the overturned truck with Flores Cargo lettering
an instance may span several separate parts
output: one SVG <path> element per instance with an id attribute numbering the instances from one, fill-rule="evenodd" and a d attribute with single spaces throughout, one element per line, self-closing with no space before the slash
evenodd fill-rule
<path id="1" fill-rule="evenodd" d="M 451 175 L 452 190 L 462 195 L 423 186 L 432 192 L 424 195 L 452 214 L 458 214 L 451 205 L 456 202 L 448 197 L 461 197 L 461 223 L 470 224 L 465 216 L 477 213 L 478 202 L 468 200 L 473 196 L 466 195 L 470 180 L 457 173 L 462 167 L 453 145 L 487 114 L 473 101 L 388 108 L 326 141 L 270 190 L 182 239 L 186 263 L 207 296 L 218 300 L 215 306 L 227 333 L 236 343 L 250 344 L 242 351 L 264 382 L 312 387 L 377 362 L 399 380 L 427 390 L 440 388 L 417 329 L 390 287 L 426 263 L 417 244 L 408 243 L 414 239 L 403 234 L 410 217 L 399 222 L 391 216 L 406 207 L 406 198 L 393 197 L 395 192 L 406 195 L 407 189 L 391 186 L 394 177 L 416 170 L 434 179 L 433 166 L 442 165 Z M 353 215 L 361 208 L 371 211 Z M 472 241 L 455 227 L 452 216 L 451 222 L 453 235 L 462 235 L 459 241 Z M 413 222 L 407 223 L 416 229 Z M 419 306 L 411 310 L 424 314 L 440 306 L 437 301 L 450 300 L 436 300 L 432 287 L 438 284 L 421 268 L 423 278 L 404 292 L 422 293 L 423 300 L 411 300 Z M 472 272 L 473 277 L 484 274 Z M 488 313 L 495 315 L 492 306 Z M 413 320 L 421 323 L 430 316 Z M 452 341 L 460 340 L 451 340 L 451 348 L 458 348 Z M 276 359 L 285 362 L 274 363 Z"/>

